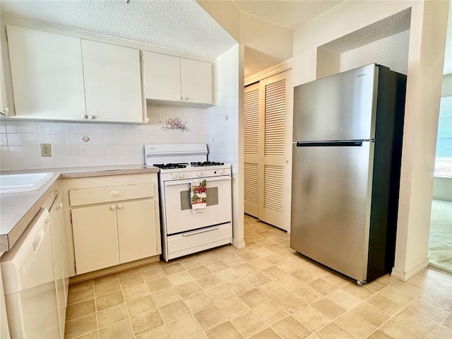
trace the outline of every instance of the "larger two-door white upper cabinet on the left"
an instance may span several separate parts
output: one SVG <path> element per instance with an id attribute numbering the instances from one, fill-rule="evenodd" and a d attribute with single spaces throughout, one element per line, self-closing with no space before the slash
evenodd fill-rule
<path id="1" fill-rule="evenodd" d="M 16 117 L 143 123 L 138 49 L 7 30 Z"/>

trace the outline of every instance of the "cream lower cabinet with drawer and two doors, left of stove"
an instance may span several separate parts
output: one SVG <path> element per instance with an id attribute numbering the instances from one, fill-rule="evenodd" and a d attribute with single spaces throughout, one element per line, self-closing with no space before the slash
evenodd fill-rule
<path id="1" fill-rule="evenodd" d="M 64 182 L 76 275 L 161 253 L 157 174 Z"/>

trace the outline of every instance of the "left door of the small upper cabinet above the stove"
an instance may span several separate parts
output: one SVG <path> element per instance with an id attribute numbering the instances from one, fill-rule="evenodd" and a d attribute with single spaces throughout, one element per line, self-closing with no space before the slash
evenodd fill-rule
<path id="1" fill-rule="evenodd" d="M 178 57 L 143 52 L 144 93 L 146 99 L 179 101 L 181 99 Z"/>

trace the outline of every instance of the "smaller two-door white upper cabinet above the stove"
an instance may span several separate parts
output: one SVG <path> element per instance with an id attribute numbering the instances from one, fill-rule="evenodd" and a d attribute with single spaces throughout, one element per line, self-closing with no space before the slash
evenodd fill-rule
<path id="1" fill-rule="evenodd" d="M 213 106 L 212 64 L 143 52 L 145 98 L 179 105 Z"/>

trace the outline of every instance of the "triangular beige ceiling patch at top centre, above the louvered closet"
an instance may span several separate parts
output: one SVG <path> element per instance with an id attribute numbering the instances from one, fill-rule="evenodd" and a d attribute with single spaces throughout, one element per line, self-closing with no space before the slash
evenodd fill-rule
<path id="1" fill-rule="evenodd" d="M 337 6 L 334 0 L 233 0 L 240 11 L 295 29 Z"/>

